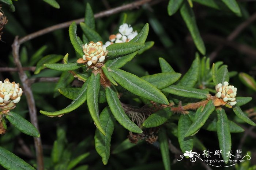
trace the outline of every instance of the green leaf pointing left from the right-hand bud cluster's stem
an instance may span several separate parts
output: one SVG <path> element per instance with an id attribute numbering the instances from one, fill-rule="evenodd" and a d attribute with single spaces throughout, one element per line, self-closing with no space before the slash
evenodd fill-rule
<path id="1" fill-rule="evenodd" d="M 195 98 L 195 99 L 205 99 L 209 95 L 209 92 L 206 90 L 200 90 L 197 88 L 192 87 L 183 87 L 183 86 L 176 86 L 171 85 L 162 89 L 164 92 L 168 92 L 170 94 L 175 94 L 182 97 L 187 98 Z"/>

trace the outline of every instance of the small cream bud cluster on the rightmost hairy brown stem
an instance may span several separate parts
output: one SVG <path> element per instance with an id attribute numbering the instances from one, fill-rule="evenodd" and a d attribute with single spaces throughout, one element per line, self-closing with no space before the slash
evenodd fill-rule
<path id="1" fill-rule="evenodd" d="M 221 101 L 221 105 L 229 104 L 234 106 L 236 102 L 236 94 L 237 88 L 234 86 L 229 85 L 228 82 L 224 82 L 223 84 L 219 83 L 215 86 L 216 89 L 216 96 L 218 99 L 223 100 Z"/>

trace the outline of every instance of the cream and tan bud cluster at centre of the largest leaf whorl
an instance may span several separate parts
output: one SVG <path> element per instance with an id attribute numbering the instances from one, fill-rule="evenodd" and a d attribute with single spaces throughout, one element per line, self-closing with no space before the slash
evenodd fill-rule
<path id="1" fill-rule="evenodd" d="M 108 50 L 106 47 L 102 47 L 102 42 L 98 41 L 94 43 L 90 41 L 89 44 L 85 44 L 83 47 L 83 58 L 78 59 L 77 63 L 87 63 L 88 68 L 93 68 L 98 70 L 99 67 L 102 67 L 106 56 L 108 55 Z"/>

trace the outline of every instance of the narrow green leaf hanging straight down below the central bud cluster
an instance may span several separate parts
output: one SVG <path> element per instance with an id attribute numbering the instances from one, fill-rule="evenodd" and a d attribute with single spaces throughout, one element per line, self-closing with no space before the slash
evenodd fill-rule
<path id="1" fill-rule="evenodd" d="M 91 118 L 93 118 L 94 124 L 98 128 L 98 130 L 103 134 L 105 134 L 105 130 L 101 125 L 101 121 L 99 120 L 99 88 L 101 76 L 99 74 L 94 75 L 93 73 L 90 76 L 90 81 L 87 87 L 87 106 L 91 114 Z"/>

